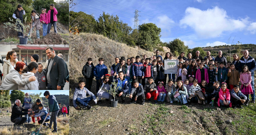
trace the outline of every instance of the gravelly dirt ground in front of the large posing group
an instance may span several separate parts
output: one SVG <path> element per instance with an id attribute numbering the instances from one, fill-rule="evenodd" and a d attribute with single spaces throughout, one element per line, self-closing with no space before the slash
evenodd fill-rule
<path id="1" fill-rule="evenodd" d="M 95 93 L 95 80 L 92 92 Z M 76 110 L 70 91 L 70 135 L 76 134 L 194 134 L 194 135 L 255 135 L 256 105 L 244 109 L 211 107 L 210 104 L 145 102 L 145 105 L 125 104 L 119 99 L 117 107 L 102 99 L 102 104 L 92 101 L 91 110 Z M 248 123 L 252 123 L 251 125 Z"/>

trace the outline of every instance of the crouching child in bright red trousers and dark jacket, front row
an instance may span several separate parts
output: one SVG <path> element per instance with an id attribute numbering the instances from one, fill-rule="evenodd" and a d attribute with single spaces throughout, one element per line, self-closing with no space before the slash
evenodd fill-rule
<path id="1" fill-rule="evenodd" d="M 157 104 L 157 86 L 154 83 L 153 77 L 148 78 L 148 83 L 144 86 L 144 91 L 146 92 L 146 98 L 148 99 L 148 102 L 150 102 L 150 98 L 154 97 L 154 102 Z"/>

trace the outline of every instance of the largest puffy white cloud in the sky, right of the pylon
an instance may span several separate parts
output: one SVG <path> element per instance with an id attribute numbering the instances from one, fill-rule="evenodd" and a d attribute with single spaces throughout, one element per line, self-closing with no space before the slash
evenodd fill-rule
<path id="1" fill-rule="evenodd" d="M 226 10 L 219 7 L 207 10 L 188 7 L 180 24 L 192 27 L 201 38 L 214 38 L 225 31 L 243 30 L 248 22 L 247 19 L 247 17 L 232 19 L 227 15 Z"/>

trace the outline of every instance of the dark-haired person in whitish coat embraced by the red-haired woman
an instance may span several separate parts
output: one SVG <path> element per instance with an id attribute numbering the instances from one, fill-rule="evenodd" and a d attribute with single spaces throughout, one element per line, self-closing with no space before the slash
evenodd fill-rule
<path id="1" fill-rule="evenodd" d="M 22 78 L 21 79 L 26 79 L 29 78 L 31 76 L 35 76 L 35 73 L 38 70 L 38 64 L 35 61 L 32 61 L 29 63 L 29 65 L 27 65 L 26 68 L 24 68 L 21 73 L 22 74 Z M 39 90 L 38 88 L 39 83 L 37 81 L 37 79 L 35 81 L 29 82 L 25 85 L 19 85 L 18 88 L 19 90 Z"/>

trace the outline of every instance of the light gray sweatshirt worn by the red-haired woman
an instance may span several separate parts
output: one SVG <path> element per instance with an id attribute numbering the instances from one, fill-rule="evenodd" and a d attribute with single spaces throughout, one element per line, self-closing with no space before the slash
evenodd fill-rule
<path id="1" fill-rule="evenodd" d="M 18 90 L 18 85 L 25 85 L 29 83 L 29 79 L 21 79 L 21 75 L 18 71 L 12 69 L 6 75 L 0 86 L 1 90 Z"/>

